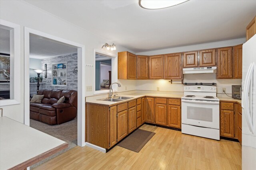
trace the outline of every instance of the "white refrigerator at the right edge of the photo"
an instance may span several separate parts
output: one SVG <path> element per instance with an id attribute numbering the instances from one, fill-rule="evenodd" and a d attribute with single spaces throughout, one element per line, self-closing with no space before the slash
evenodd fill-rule
<path id="1" fill-rule="evenodd" d="M 243 45 L 242 170 L 256 169 L 256 35 Z"/>

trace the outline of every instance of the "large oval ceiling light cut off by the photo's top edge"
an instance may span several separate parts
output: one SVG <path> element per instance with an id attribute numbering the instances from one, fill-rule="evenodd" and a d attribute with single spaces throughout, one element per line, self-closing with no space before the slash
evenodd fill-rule
<path id="1" fill-rule="evenodd" d="M 177 6 L 189 0 L 139 0 L 139 6 L 147 10 L 158 10 Z"/>

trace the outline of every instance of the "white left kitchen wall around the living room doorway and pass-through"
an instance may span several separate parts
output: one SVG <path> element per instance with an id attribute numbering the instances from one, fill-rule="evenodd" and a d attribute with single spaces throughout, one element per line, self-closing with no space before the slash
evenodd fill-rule
<path id="1" fill-rule="evenodd" d="M 10 21 L 21 26 L 21 94 L 24 94 L 24 27 L 42 31 L 50 35 L 61 37 L 69 41 L 73 41 L 79 44 L 85 45 L 85 61 L 82 64 L 92 64 L 94 65 L 94 49 L 101 49 L 102 45 L 105 43 L 114 43 L 110 40 L 106 40 L 98 35 L 90 33 L 85 29 L 82 29 L 72 23 L 66 22 L 56 16 L 53 16 L 47 12 L 44 12 L 38 8 L 26 4 L 22 1 L 0 1 L 0 18 L 2 20 Z M 118 51 L 133 51 L 126 49 L 120 45 L 116 45 L 116 51 L 107 51 L 108 53 L 113 53 L 117 55 Z M 93 82 L 93 67 L 86 67 L 84 78 L 86 79 L 86 86 L 94 86 Z M 117 67 L 116 67 L 117 69 Z M 114 70 L 113 70 L 114 71 Z M 122 84 L 122 83 L 121 83 Z M 130 90 L 135 90 L 136 83 L 131 81 L 128 84 Z M 85 87 L 84 87 L 85 88 Z M 124 90 L 118 88 L 118 90 Z M 93 92 L 86 92 L 86 96 L 92 96 Z M 24 96 L 29 98 L 29 96 Z M 83 96 L 85 97 L 85 96 Z M 22 97 L 21 103 L 14 106 L 4 106 L 3 114 L 19 122 L 24 122 L 24 98 Z"/>

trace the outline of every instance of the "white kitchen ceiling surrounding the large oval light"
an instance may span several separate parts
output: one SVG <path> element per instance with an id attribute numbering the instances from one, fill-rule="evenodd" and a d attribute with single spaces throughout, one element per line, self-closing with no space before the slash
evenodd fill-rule
<path id="1" fill-rule="evenodd" d="M 24 1 L 135 52 L 242 38 L 256 15 L 256 0 L 190 0 L 161 10 L 138 0 Z"/>

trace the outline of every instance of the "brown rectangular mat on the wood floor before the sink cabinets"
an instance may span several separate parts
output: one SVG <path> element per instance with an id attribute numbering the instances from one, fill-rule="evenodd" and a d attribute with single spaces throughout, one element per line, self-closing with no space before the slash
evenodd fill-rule
<path id="1" fill-rule="evenodd" d="M 134 152 L 140 152 L 155 134 L 154 132 L 137 129 L 117 145 Z"/>

